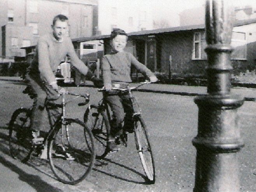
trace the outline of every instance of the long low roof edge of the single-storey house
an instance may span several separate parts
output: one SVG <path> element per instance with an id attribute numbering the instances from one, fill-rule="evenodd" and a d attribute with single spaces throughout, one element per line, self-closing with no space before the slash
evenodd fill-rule
<path id="1" fill-rule="evenodd" d="M 242 26 L 246 24 L 256 23 L 256 19 L 246 19 L 236 21 L 234 27 Z M 162 28 L 162 29 L 155 29 L 155 30 L 144 30 L 144 31 L 135 31 L 128 33 L 128 36 L 140 36 L 140 35 L 155 35 L 160 33 L 171 33 L 175 31 L 189 31 L 189 30 L 203 30 L 205 28 L 205 24 L 198 24 L 198 25 L 187 25 L 187 26 L 178 26 L 178 27 L 171 27 L 171 28 Z M 89 40 L 101 40 L 104 38 L 109 38 L 110 35 L 97 35 L 92 37 L 81 37 L 81 38 L 73 38 L 72 42 L 85 42 Z"/>

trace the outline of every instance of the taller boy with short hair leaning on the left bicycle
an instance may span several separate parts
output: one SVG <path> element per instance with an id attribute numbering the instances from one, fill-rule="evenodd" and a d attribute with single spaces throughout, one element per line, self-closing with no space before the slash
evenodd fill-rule
<path id="1" fill-rule="evenodd" d="M 57 15 L 53 19 L 53 32 L 42 35 L 37 42 L 37 51 L 33 61 L 28 68 L 26 81 L 35 95 L 32 117 L 32 142 L 34 145 L 42 142 L 40 137 L 40 126 L 42 125 L 42 114 L 46 98 L 58 98 L 58 85 L 54 73 L 58 65 L 70 56 L 71 63 L 84 75 L 97 84 L 98 80 L 93 76 L 86 65 L 78 58 L 70 37 L 68 37 L 68 18 Z"/>

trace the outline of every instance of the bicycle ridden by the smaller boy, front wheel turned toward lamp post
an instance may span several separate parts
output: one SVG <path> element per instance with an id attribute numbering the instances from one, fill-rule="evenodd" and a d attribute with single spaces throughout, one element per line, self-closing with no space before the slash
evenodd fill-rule
<path id="1" fill-rule="evenodd" d="M 135 87 L 128 87 L 127 89 L 112 88 L 119 91 L 128 91 L 133 104 L 133 122 L 134 122 L 134 136 L 136 149 L 138 150 L 140 161 L 144 172 L 150 183 L 155 182 L 155 167 L 153 160 L 153 153 L 150 147 L 149 136 L 147 133 L 147 127 L 144 120 L 141 117 L 141 110 L 139 105 L 132 95 L 132 90 L 151 82 L 143 82 Z M 103 92 L 105 89 L 98 89 Z M 110 152 L 107 148 L 107 141 L 110 135 L 110 122 L 111 122 L 111 109 L 105 101 L 104 97 L 100 100 L 98 105 L 89 105 L 84 113 L 84 122 L 91 129 L 95 138 L 95 145 L 97 147 L 96 158 L 103 159 Z M 127 146 L 127 134 L 123 133 L 121 138 Z"/>

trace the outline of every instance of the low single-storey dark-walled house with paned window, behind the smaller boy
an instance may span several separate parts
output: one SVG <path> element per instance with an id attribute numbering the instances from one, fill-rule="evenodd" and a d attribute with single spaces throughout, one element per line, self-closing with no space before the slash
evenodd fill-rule
<path id="1" fill-rule="evenodd" d="M 207 54 L 205 26 L 181 26 L 128 33 L 126 51 L 154 72 L 204 75 Z M 104 54 L 110 51 L 109 35 L 74 39 L 74 44 L 102 39 Z M 234 73 L 256 68 L 256 19 L 234 24 L 231 61 Z"/>

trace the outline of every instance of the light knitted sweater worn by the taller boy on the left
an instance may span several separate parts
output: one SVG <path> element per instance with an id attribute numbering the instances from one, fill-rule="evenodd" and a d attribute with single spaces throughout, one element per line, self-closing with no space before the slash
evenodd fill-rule
<path id="1" fill-rule="evenodd" d="M 86 75 L 88 67 L 78 58 L 71 39 L 64 37 L 62 42 L 58 42 L 52 33 L 39 38 L 29 74 L 40 75 L 41 79 L 48 84 L 54 82 L 54 72 L 56 72 L 61 61 L 65 61 L 67 54 L 70 56 L 72 65 Z"/>

